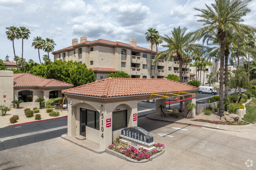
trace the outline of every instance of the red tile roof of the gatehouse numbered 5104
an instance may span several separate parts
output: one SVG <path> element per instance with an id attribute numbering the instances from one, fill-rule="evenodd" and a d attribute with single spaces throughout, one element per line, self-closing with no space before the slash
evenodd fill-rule
<path id="1" fill-rule="evenodd" d="M 76 88 L 64 90 L 62 92 L 105 98 L 151 93 L 171 93 L 198 89 L 199 88 L 195 86 L 190 86 L 188 84 L 169 79 L 107 78 L 89 84 L 84 84 Z"/>

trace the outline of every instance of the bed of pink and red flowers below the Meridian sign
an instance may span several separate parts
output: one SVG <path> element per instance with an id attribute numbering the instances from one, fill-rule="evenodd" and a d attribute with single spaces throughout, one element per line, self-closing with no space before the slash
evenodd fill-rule
<path id="1" fill-rule="evenodd" d="M 119 143 L 119 138 L 117 138 L 117 141 L 114 141 L 114 143 L 109 145 L 108 148 L 137 161 L 141 161 L 142 159 L 150 159 L 150 156 L 163 151 L 165 148 L 164 144 L 161 143 L 153 144 L 153 146 L 156 146 L 156 149 L 148 152 L 143 148 L 137 149 L 134 146 Z"/>

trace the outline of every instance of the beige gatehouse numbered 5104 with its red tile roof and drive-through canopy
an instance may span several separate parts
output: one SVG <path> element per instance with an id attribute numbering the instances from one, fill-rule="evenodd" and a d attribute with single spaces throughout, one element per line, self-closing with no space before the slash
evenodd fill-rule
<path id="1" fill-rule="evenodd" d="M 137 126 L 137 101 L 156 99 L 156 113 L 165 98 L 182 95 L 195 104 L 199 88 L 169 79 L 107 78 L 62 91 L 68 98 L 68 136 L 86 137 L 107 148 L 121 130 Z M 165 109 L 163 109 L 165 112 Z M 195 110 L 188 117 L 195 116 Z"/>

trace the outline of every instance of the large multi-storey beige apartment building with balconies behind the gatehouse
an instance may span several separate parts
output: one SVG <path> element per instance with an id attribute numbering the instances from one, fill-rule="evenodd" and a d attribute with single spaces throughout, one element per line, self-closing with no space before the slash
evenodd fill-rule
<path id="1" fill-rule="evenodd" d="M 88 41 L 86 36 L 72 39 L 72 46 L 52 52 L 55 60 L 73 60 L 85 63 L 87 68 L 104 68 L 95 72 L 97 80 L 105 79 L 113 70 L 124 71 L 132 78 L 158 78 L 162 79 L 169 74 L 179 76 L 179 62 L 175 55 L 171 60 L 158 60 L 153 63 L 156 55 L 156 47 L 153 46 L 151 56 L 151 44 L 149 48 L 137 46 L 137 41 L 130 38 L 129 44 L 108 40 Z M 184 82 L 189 81 L 189 64 L 183 63 Z M 152 74 L 150 77 L 150 68 Z M 186 68 L 186 69 L 185 69 Z"/>

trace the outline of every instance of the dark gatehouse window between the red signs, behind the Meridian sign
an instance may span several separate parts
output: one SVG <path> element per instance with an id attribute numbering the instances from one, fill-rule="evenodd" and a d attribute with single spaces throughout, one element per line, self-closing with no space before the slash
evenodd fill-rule
<path id="1" fill-rule="evenodd" d="M 127 110 L 112 113 L 112 130 L 127 127 Z"/>

